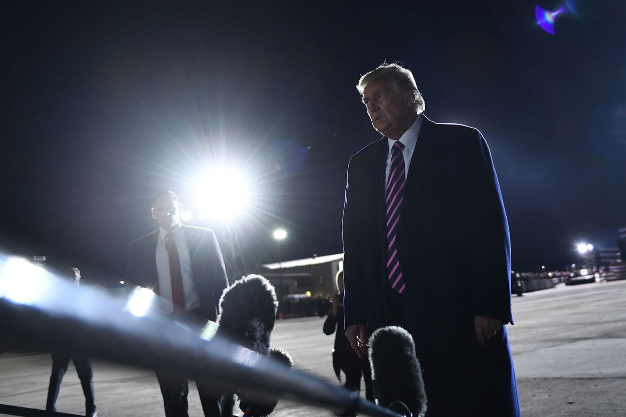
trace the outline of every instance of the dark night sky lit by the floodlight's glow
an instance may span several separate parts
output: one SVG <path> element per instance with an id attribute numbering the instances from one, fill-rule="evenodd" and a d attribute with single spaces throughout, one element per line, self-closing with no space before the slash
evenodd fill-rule
<path id="1" fill-rule="evenodd" d="M 622 1 L 12 3 L 6 250 L 112 281 L 154 229 L 152 195 L 194 209 L 196 178 L 225 162 L 250 178 L 233 220 L 248 265 L 277 261 L 279 226 L 283 259 L 341 252 L 347 162 L 379 138 L 355 85 L 385 60 L 413 71 L 429 118 L 485 135 L 514 269 L 562 269 L 626 226 Z M 567 9 L 555 34 L 536 4 Z"/>

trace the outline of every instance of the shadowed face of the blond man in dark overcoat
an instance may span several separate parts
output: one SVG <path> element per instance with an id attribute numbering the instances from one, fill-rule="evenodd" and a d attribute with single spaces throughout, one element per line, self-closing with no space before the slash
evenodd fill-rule
<path id="1" fill-rule="evenodd" d="M 389 139 L 398 140 L 414 121 L 411 95 L 398 93 L 391 80 L 369 83 L 362 101 L 374 129 Z"/>

